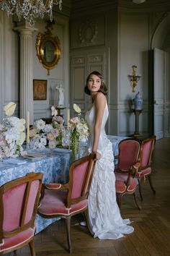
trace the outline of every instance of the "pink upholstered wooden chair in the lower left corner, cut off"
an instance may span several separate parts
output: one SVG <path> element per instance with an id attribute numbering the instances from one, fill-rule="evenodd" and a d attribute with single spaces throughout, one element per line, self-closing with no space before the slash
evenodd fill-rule
<path id="1" fill-rule="evenodd" d="M 27 174 L 0 187 L 0 255 L 29 244 L 35 256 L 35 215 L 42 174 Z"/>

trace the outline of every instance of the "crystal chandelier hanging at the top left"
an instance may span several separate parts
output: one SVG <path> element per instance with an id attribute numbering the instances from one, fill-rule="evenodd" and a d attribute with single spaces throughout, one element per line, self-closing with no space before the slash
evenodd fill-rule
<path id="1" fill-rule="evenodd" d="M 0 0 L 0 9 L 7 15 L 17 14 L 19 21 L 24 17 L 30 25 L 35 25 L 35 18 L 44 18 L 45 14 L 53 20 L 53 4 L 58 4 L 62 9 L 62 0 Z"/>

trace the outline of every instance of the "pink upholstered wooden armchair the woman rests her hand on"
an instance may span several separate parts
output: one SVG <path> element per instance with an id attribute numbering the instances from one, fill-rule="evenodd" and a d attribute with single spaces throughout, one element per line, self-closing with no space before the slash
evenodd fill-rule
<path id="1" fill-rule="evenodd" d="M 71 216 L 85 212 L 94 171 L 94 156 L 88 155 L 71 163 L 67 184 L 43 184 L 38 213 L 44 218 L 66 219 L 68 249 L 71 252 Z M 88 225 L 88 221 L 87 221 Z"/>

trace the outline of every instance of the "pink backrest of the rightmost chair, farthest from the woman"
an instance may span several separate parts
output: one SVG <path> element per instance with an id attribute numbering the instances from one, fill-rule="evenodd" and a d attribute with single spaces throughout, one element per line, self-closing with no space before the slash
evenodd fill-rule
<path id="1" fill-rule="evenodd" d="M 143 140 L 140 147 L 140 169 L 151 166 L 151 158 L 155 144 L 155 137 Z"/>

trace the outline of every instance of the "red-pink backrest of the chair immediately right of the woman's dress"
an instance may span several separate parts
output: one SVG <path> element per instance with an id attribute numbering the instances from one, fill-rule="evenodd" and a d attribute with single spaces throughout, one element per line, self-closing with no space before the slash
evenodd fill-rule
<path id="1" fill-rule="evenodd" d="M 133 139 L 121 140 L 119 143 L 119 155 L 117 170 L 128 171 L 138 161 L 140 142 Z"/>

